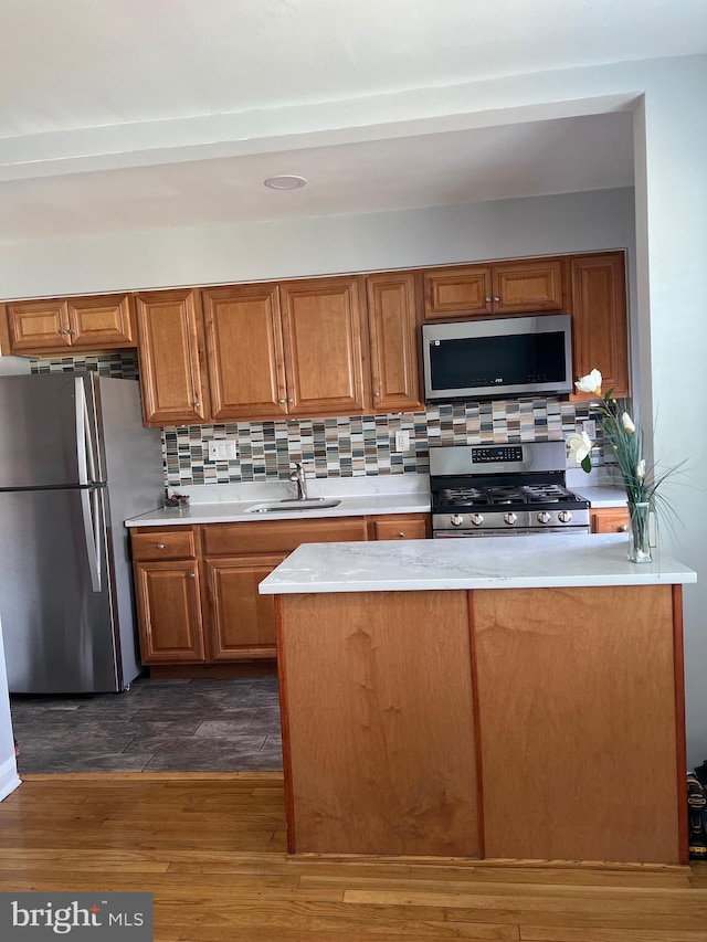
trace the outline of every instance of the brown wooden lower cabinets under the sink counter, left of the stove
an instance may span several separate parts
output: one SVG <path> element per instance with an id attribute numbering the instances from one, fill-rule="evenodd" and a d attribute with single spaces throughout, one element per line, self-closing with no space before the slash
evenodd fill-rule
<path id="1" fill-rule="evenodd" d="M 219 665 L 275 658 L 275 602 L 257 586 L 300 543 L 424 539 L 429 517 L 258 520 L 130 532 L 143 664 Z"/>

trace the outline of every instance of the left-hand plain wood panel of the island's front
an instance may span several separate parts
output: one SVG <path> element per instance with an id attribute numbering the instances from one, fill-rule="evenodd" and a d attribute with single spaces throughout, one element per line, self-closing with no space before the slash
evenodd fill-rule
<path id="1" fill-rule="evenodd" d="M 481 857 L 465 592 L 279 599 L 291 853 Z"/>

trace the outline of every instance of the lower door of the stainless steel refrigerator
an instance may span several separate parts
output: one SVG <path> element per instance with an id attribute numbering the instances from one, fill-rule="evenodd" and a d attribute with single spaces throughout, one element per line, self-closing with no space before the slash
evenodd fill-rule
<path id="1" fill-rule="evenodd" d="M 0 533 L 10 691 L 122 689 L 102 489 L 0 493 Z"/>

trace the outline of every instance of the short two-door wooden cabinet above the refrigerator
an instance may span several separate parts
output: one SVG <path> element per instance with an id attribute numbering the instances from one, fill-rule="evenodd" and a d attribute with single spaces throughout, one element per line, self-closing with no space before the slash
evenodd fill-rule
<path id="1" fill-rule="evenodd" d="M 9 301 L 4 307 L 8 353 L 137 346 L 129 294 Z"/>

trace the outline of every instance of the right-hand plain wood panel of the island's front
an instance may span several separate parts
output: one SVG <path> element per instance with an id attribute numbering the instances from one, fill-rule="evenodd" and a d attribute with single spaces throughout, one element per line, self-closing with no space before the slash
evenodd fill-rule
<path id="1" fill-rule="evenodd" d="M 680 860 L 672 589 L 473 593 L 488 857 Z"/>

